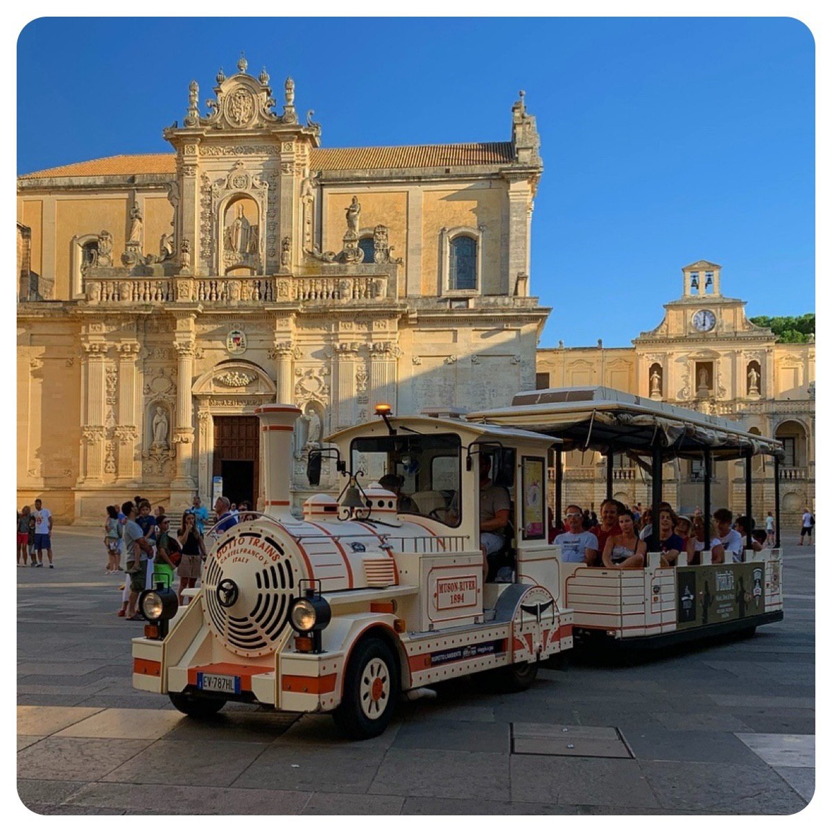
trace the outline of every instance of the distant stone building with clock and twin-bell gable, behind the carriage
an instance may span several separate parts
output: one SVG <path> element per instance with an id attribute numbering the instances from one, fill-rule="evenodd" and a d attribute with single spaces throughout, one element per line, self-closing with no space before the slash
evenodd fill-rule
<path id="1" fill-rule="evenodd" d="M 537 387 L 603 384 L 646 399 L 738 421 L 750 433 L 779 438 L 780 508 L 784 529 L 799 527 L 804 507 L 815 511 L 815 343 L 780 344 L 770 329 L 745 316 L 745 301 L 722 294 L 722 267 L 708 260 L 686 265 L 682 293 L 665 304 L 656 329 L 630 347 L 539 349 Z M 754 518 L 775 507 L 774 466 L 755 459 Z M 701 464 L 665 466 L 665 498 L 681 511 L 702 503 Z M 650 480 L 631 460 L 616 459 L 614 496 L 634 505 L 651 501 Z M 583 506 L 606 496 L 606 462 L 597 453 L 564 458 L 564 493 Z M 711 504 L 745 513 L 742 461 L 716 463 Z"/>

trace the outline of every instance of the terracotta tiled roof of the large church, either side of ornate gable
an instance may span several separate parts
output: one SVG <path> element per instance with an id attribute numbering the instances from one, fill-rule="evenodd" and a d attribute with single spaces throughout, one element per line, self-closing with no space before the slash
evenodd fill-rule
<path id="1" fill-rule="evenodd" d="M 378 170 L 408 167 L 463 167 L 506 165 L 513 161 L 510 141 L 471 142 L 461 145 L 413 145 L 405 147 L 323 147 L 313 150 L 310 166 L 316 171 Z M 176 154 L 143 153 L 106 156 L 72 165 L 33 171 L 20 179 L 58 176 L 130 176 L 176 173 Z"/>

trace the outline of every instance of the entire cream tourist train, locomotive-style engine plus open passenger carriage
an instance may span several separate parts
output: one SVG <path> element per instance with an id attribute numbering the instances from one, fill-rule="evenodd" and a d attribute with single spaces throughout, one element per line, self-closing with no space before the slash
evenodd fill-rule
<path id="1" fill-rule="evenodd" d="M 549 543 L 552 448 L 558 460 L 576 443 L 650 456 L 657 505 L 661 463 L 673 456 L 704 454 L 706 470 L 714 457 L 759 453 L 776 464 L 779 443 L 725 419 L 603 388 L 518 394 L 510 408 L 465 418 L 396 417 L 379 405 L 374 422 L 310 453 L 310 483 L 326 464 L 344 488 L 306 500 L 299 519 L 286 460 L 300 410 L 257 414 L 265 513 L 210 533 L 202 587 L 186 590 L 186 606 L 161 585 L 140 599 L 148 624 L 133 640 L 133 684 L 191 716 L 230 700 L 329 711 L 346 735 L 365 738 L 384 731 L 403 691 L 485 671 L 526 688 L 542 662 L 572 648 L 573 627 L 651 645 L 782 617 L 779 549 L 719 565 L 703 552 L 687 566 L 682 554 L 676 567 L 650 552 L 643 568 L 624 570 L 564 563 Z M 488 568 L 481 466 L 510 498 L 508 534 Z M 397 487 L 382 488 L 389 474 Z M 560 478 L 555 488 L 559 514 Z"/>

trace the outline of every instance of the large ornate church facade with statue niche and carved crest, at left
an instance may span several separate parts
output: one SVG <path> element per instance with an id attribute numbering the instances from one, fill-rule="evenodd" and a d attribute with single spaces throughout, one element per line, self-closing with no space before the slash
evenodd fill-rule
<path id="1" fill-rule="evenodd" d="M 17 489 L 57 522 L 136 493 L 181 511 L 214 478 L 262 500 L 266 402 L 310 448 L 370 418 L 508 404 L 534 386 L 542 174 L 521 93 L 508 141 L 326 148 L 287 79 L 191 82 L 172 152 L 17 180 Z M 324 468 L 322 485 L 336 484 Z"/>

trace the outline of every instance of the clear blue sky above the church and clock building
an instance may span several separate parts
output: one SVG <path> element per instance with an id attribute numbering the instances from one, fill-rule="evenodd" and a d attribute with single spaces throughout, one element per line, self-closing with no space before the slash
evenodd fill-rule
<path id="1" fill-rule="evenodd" d="M 18 172 L 169 151 L 191 78 L 204 102 L 240 49 L 278 92 L 295 78 L 324 146 L 505 141 L 526 90 L 542 346 L 628 344 L 701 258 L 749 314 L 815 309 L 815 43 L 798 21 L 41 18 L 18 40 Z"/>

